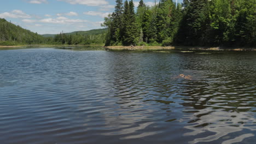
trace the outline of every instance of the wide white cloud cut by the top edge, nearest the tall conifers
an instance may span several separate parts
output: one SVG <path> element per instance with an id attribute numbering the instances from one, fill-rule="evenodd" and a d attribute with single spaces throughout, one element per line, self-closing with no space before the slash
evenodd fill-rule
<path id="1" fill-rule="evenodd" d="M 89 6 L 100 6 L 100 5 L 108 4 L 106 0 L 58 0 L 58 1 L 67 2 L 70 4 L 84 4 Z"/>

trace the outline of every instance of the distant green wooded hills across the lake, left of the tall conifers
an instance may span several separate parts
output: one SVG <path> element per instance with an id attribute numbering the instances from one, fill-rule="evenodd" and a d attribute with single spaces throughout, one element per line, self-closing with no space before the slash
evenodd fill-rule
<path id="1" fill-rule="evenodd" d="M 30 44 L 57 44 L 57 45 L 90 45 L 104 44 L 107 29 L 78 31 L 54 35 L 39 35 L 20 26 L 16 26 L 5 19 L 0 19 L 0 45 L 30 45 Z M 48 37 L 47 37 L 48 36 Z"/>

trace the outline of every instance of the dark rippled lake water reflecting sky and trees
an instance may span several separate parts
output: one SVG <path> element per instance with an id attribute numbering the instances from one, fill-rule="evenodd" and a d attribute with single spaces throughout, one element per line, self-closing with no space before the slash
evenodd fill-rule
<path id="1" fill-rule="evenodd" d="M 49 48 L 0 58 L 3 144 L 256 141 L 256 52 Z"/>

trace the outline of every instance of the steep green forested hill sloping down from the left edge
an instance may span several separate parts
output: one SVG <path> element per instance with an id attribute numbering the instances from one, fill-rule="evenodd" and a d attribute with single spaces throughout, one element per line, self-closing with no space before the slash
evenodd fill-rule
<path id="1" fill-rule="evenodd" d="M 42 35 L 0 19 L 0 45 L 41 44 L 44 40 Z"/>

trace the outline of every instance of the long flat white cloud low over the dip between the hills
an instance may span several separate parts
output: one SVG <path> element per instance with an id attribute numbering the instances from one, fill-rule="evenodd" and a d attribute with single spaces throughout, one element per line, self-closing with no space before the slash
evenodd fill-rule
<path id="1" fill-rule="evenodd" d="M 47 18 L 47 19 L 42 19 L 39 20 L 39 22 L 43 23 L 54 23 L 54 24 L 70 24 L 70 23 L 82 23 L 82 22 L 88 22 L 86 20 L 81 20 L 81 19 L 68 19 L 67 17 L 57 17 L 56 19 L 53 18 Z"/>

